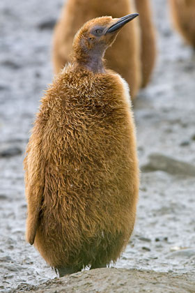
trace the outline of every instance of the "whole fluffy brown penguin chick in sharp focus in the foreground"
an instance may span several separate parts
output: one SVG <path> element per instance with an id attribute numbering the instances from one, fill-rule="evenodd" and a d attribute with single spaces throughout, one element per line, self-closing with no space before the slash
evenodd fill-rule
<path id="1" fill-rule="evenodd" d="M 60 276 L 116 262 L 134 228 L 139 168 L 130 96 L 102 58 L 137 15 L 81 27 L 74 61 L 42 98 L 26 149 L 26 240 Z"/>

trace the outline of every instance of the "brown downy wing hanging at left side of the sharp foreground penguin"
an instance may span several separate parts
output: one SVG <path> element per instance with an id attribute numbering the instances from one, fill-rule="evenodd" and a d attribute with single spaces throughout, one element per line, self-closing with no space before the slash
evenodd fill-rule
<path id="1" fill-rule="evenodd" d="M 38 124 L 38 123 L 37 123 Z M 34 243 L 45 187 L 45 160 L 42 155 L 42 131 L 35 123 L 24 159 L 27 200 L 26 241 Z"/>

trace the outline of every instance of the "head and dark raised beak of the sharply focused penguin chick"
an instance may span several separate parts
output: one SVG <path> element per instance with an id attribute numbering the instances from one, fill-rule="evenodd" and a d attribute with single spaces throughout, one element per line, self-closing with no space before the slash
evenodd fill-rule
<path id="1" fill-rule="evenodd" d="M 120 18 L 105 16 L 89 20 L 75 35 L 72 44 L 73 56 L 77 60 L 97 55 L 103 57 L 107 47 L 114 43 L 120 29 L 138 15 L 133 13 Z"/>

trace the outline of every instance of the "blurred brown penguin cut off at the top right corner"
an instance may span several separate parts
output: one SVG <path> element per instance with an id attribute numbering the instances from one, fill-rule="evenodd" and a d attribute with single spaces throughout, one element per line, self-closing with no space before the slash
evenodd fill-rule
<path id="1" fill-rule="evenodd" d="M 195 1 L 169 0 L 173 24 L 195 49 Z"/>

